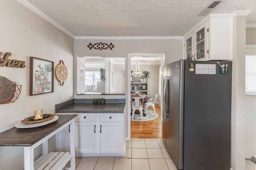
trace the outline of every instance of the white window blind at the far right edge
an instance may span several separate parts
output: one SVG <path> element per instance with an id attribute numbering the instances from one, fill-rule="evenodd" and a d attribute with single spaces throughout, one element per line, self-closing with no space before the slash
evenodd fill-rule
<path id="1" fill-rule="evenodd" d="M 245 94 L 256 95 L 256 55 L 245 56 Z"/>

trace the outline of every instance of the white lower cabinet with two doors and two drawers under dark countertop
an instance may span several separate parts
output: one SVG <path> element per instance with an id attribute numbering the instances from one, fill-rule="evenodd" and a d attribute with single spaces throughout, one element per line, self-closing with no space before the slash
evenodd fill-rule
<path id="1" fill-rule="evenodd" d="M 76 156 L 124 155 L 123 113 L 78 113 Z"/>

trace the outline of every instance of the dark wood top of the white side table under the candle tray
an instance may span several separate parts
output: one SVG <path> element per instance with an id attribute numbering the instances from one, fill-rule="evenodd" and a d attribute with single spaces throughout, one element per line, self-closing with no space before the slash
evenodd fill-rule
<path id="1" fill-rule="evenodd" d="M 0 146 L 31 146 L 76 116 L 76 114 L 58 115 L 56 121 L 40 127 L 26 129 L 14 127 L 0 133 Z"/>

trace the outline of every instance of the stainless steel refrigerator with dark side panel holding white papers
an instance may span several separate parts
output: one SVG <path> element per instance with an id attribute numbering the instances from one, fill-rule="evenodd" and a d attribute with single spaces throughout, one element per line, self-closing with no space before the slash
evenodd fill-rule
<path id="1" fill-rule="evenodd" d="M 232 62 L 181 60 L 163 76 L 162 138 L 178 170 L 229 170 Z"/>

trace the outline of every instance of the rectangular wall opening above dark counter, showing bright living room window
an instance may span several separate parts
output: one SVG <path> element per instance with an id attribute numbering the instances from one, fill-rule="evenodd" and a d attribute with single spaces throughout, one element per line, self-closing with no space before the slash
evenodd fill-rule
<path id="1" fill-rule="evenodd" d="M 78 62 L 78 94 L 125 93 L 125 57 L 79 57 Z"/>

